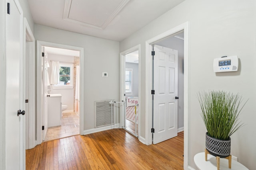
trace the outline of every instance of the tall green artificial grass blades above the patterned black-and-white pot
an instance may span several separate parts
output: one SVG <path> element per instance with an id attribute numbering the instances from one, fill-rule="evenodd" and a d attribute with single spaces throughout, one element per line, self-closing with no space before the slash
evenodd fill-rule
<path id="1" fill-rule="evenodd" d="M 198 100 L 202 109 L 201 116 L 208 135 L 221 140 L 227 140 L 243 123 L 239 114 L 244 107 L 239 94 L 224 91 L 199 92 Z"/>

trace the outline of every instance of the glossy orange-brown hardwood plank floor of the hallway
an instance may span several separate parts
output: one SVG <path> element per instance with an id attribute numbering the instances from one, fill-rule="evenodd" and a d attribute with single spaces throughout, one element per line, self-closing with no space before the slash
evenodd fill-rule
<path id="1" fill-rule="evenodd" d="M 27 170 L 183 170 L 183 132 L 144 145 L 124 129 L 76 135 L 26 150 Z"/>

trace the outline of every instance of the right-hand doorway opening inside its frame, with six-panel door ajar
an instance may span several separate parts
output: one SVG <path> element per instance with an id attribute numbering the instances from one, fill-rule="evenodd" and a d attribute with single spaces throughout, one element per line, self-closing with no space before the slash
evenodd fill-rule
<path id="1" fill-rule="evenodd" d="M 166 94 L 164 91 L 160 92 L 161 94 L 156 92 L 153 100 L 153 128 L 156 128 L 155 133 L 153 133 L 153 143 L 158 143 L 175 137 L 178 132 L 184 130 L 184 31 L 154 43 L 153 47 L 155 51 L 153 70 L 154 74 L 159 75 L 154 75 L 153 77 L 153 89 L 159 89 L 160 91 L 166 90 Z M 164 54 L 166 56 L 164 56 Z M 163 59 L 159 59 L 159 57 Z M 164 58 L 167 61 L 164 61 Z M 155 64 L 157 64 L 159 68 Z M 166 68 L 166 70 L 163 68 Z M 160 74 L 160 72 L 162 73 Z M 166 75 L 165 78 L 161 78 L 160 75 L 163 74 Z M 165 82 L 164 80 L 166 78 L 168 80 Z M 168 89 L 164 89 L 164 86 L 162 86 L 164 82 L 168 84 Z M 160 84 L 160 86 L 155 86 L 158 84 Z M 166 125 L 166 129 L 165 127 L 161 127 L 161 125 L 157 125 L 158 122 L 161 122 L 160 119 L 155 119 L 161 116 L 160 113 L 158 114 L 158 109 L 164 107 L 164 102 L 162 101 L 164 97 L 167 97 L 166 101 L 168 101 L 166 104 L 168 107 L 164 109 L 166 111 L 165 119 L 170 119 L 162 123 L 162 125 Z M 157 104 L 158 98 L 161 100 L 159 107 Z M 161 114 L 162 113 L 164 112 L 161 112 Z M 161 135 L 160 137 L 156 137 L 159 131 Z M 163 133 L 166 133 L 166 135 L 163 135 Z"/>

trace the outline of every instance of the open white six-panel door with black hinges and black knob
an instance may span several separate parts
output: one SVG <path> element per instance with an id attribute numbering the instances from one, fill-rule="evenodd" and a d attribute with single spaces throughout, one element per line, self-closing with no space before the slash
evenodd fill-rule
<path id="1" fill-rule="evenodd" d="M 153 143 L 177 136 L 178 51 L 154 45 Z"/>

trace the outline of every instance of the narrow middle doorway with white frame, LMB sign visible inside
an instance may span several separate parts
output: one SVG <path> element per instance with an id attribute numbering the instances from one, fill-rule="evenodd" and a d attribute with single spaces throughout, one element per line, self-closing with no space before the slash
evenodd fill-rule
<path id="1" fill-rule="evenodd" d="M 140 133 L 140 45 L 120 53 L 120 99 L 126 102 L 125 129 Z"/>

